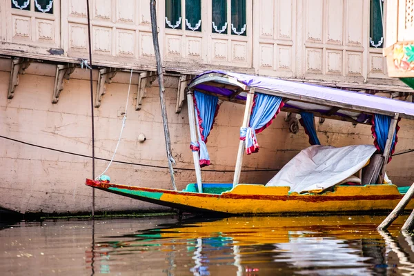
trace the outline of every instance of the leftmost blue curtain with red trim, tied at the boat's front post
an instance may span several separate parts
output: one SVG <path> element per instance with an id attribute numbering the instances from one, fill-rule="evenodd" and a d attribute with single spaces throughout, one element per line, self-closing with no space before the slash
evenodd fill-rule
<path id="1" fill-rule="evenodd" d="M 200 166 L 210 165 L 210 156 L 206 146 L 207 137 L 213 127 L 215 115 L 217 115 L 218 97 L 207 95 L 201 92 L 194 92 L 194 107 L 197 118 L 197 131 L 199 141 L 197 144 L 191 143 L 191 150 L 199 151 Z M 190 122 L 191 124 L 191 122 Z"/>

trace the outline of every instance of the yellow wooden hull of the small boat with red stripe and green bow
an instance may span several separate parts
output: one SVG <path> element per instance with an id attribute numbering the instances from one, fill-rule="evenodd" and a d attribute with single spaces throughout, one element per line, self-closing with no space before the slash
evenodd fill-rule
<path id="1" fill-rule="evenodd" d="M 86 185 L 193 213 L 265 215 L 281 213 L 349 213 L 392 210 L 403 195 L 395 185 L 336 186 L 323 194 L 288 193 L 288 187 L 239 184 L 220 194 L 193 193 L 109 184 L 86 179 Z M 414 200 L 406 210 L 414 208 Z"/>

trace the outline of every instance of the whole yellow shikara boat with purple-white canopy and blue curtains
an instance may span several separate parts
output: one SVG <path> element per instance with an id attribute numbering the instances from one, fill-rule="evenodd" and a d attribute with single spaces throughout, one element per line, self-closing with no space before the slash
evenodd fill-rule
<path id="1" fill-rule="evenodd" d="M 194 103 L 195 106 L 188 108 L 188 116 L 190 148 L 193 150 L 197 183 L 188 184 L 181 191 L 112 184 L 92 179 L 86 179 L 86 185 L 191 213 L 228 215 L 387 211 L 395 208 L 409 188 L 389 184 L 386 164 L 391 160 L 397 143 L 397 122 L 401 118 L 414 119 L 414 103 L 222 71 L 205 72 L 193 79 L 188 85 L 187 99 L 188 103 Z M 205 143 L 217 115 L 215 106 L 219 99 L 246 105 L 233 184 L 206 184 L 201 181 L 201 167 L 210 164 Z M 336 169 L 339 166 L 337 162 L 341 162 L 342 157 L 333 156 L 328 161 L 322 160 L 323 164 L 318 165 L 316 159 L 312 159 L 317 154 L 309 157 L 309 151 L 304 151 L 295 158 L 299 158 L 303 164 L 306 161 L 312 166 L 316 164 L 315 167 L 309 166 L 305 175 L 292 177 L 292 173 L 287 172 L 287 177 L 280 176 L 282 171 L 286 173 L 288 163 L 266 185 L 239 184 L 244 152 L 257 152 L 259 146 L 255 133 L 262 132 L 269 126 L 280 111 L 302 116 L 301 124 L 309 135 L 310 143 L 315 145 L 310 147 L 311 151 L 317 147 L 329 149 L 317 146 L 319 140 L 314 116 L 370 126 L 375 137 L 375 148 L 368 148 L 371 153 L 360 158 L 352 168 L 344 168 L 340 172 L 332 170 L 327 176 L 320 177 L 331 179 L 331 182 L 324 180 L 319 183 L 317 176 L 308 175 L 314 172 L 323 174 L 331 167 Z M 357 159 L 355 154 L 349 162 L 352 163 L 354 159 Z M 359 180 L 349 178 L 355 178 L 355 175 L 359 175 Z M 296 185 L 295 181 L 301 182 L 300 185 Z M 306 181 L 313 185 L 304 188 Z M 414 200 L 406 206 L 407 210 L 413 208 Z"/>

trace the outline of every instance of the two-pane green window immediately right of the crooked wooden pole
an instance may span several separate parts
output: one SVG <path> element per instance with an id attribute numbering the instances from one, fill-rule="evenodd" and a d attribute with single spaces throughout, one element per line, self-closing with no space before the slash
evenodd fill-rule
<path id="1" fill-rule="evenodd" d="M 166 28 L 182 29 L 201 32 L 201 1 L 186 0 L 186 14 L 183 19 L 181 0 L 166 0 Z"/>

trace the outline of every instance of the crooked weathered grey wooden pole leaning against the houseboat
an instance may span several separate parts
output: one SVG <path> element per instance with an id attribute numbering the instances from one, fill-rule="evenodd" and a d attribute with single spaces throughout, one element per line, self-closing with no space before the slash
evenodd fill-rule
<path id="1" fill-rule="evenodd" d="M 152 31 L 152 43 L 154 44 L 155 59 L 157 60 L 157 75 L 159 83 L 159 101 L 161 102 L 161 115 L 162 124 L 164 125 L 164 137 L 166 139 L 166 152 L 168 159 L 168 168 L 170 168 L 172 188 L 177 190 L 175 186 L 174 169 L 172 164 L 175 165 L 175 160 L 171 153 L 171 141 L 170 141 L 170 130 L 168 130 L 168 117 L 166 110 L 166 100 L 164 99 L 164 73 L 162 72 L 161 54 L 159 53 L 158 43 L 158 30 L 157 30 L 157 6 L 156 1 L 151 0 L 150 2 L 150 14 L 151 14 L 151 31 Z"/>

